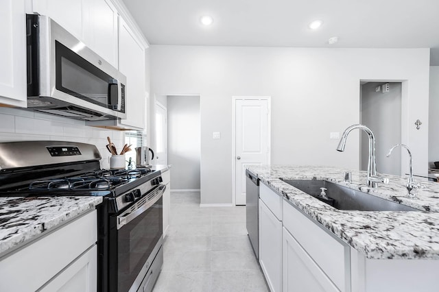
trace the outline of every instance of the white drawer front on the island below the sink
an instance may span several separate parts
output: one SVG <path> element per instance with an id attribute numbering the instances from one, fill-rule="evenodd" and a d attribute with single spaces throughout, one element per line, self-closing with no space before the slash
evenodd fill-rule
<path id="1" fill-rule="evenodd" d="M 287 201 L 283 202 L 283 226 L 340 291 L 351 291 L 348 245 L 333 238 Z"/>

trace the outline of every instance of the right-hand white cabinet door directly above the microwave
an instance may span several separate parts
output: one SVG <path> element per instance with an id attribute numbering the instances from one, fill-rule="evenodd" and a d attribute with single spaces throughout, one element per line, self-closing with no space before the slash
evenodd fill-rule
<path id="1" fill-rule="evenodd" d="M 89 1 L 85 40 L 93 51 L 117 68 L 117 9 L 110 0 Z"/>

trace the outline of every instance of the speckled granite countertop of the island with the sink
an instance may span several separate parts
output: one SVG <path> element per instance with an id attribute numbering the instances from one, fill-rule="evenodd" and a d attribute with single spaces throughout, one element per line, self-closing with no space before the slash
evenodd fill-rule
<path id="1" fill-rule="evenodd" d="M 281 193 L 330 232 L 366 258 L 439 259 L 439 184 L 420 182 L 418 199 L 405 197 L 407 178 L 381 175 L 389 184 L 366 187 L 366 171 L 334 167 L 263 165 L 250 167 L 262 182 Z M 344 171 L 352 172 L 352 182 L 343 182 Z M 359 189 L 423 212 L 337 210 L 290 186 L 285 180 L 327 180 Z"/>

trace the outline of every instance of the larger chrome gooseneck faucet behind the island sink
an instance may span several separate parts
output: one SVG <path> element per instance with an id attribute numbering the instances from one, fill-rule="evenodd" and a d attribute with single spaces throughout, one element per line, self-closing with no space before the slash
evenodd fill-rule
<path id="1" fill-rule="evenodd" d="M 340 152 L 344 151 L 348 134 L 354 129 L 363 130 L 364 132 L 366 132 L 366 134 L 368 134 L 369 137 L 368 180 L 366 182 L 367 185 L 372 188 L 376 188 L 378 186 L 377 185 L 378 182 L 383 182 L 384 184 L 388 184 L 389 183 L 388 178 L 381 178 L 377 176 L 377 162 L 375 160 L 375 136 L 373 135 L 372 130 L 370 130 L 365 125 L 357 124 L 347 127 L 342 134 L 340 143 L 338 143 L 337 151 Z"/>

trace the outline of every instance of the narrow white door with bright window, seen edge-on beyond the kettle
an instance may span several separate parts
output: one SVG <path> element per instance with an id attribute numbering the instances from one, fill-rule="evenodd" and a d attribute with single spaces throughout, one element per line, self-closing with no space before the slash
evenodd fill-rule
<path id="1" fill-rule="evenodd" d="M 154 165 L 167 165 L 167 110 L 156 103 L 156 149 Z"/>

